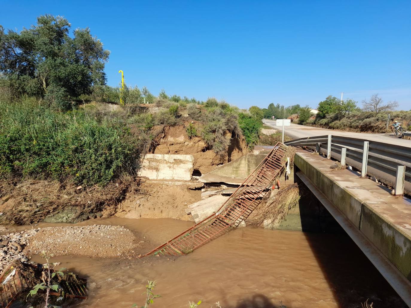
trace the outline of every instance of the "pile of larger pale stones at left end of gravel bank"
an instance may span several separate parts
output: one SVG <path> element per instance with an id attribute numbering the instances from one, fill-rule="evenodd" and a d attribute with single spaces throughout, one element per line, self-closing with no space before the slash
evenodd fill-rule
<path id="1" fill-rule="evenodd" d="M 27 262 L 30 259 L 23 253 L 23 250 L 28 244 L 28 239 L 39 230 L 40 228 L 0 235 L 0 274 L 14 260 Z"/>

